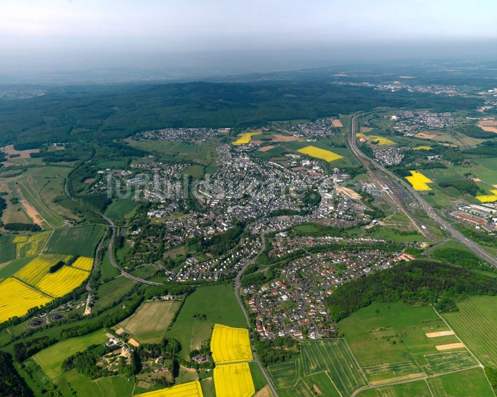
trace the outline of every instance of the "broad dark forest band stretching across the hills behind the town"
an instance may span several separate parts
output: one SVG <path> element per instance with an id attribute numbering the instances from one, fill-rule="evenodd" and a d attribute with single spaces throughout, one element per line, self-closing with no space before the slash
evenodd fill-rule
<path id="1" fill-rule="evenodd" d="M 15 141 L 17 149 L 29 149 L 53 142 L 102 142 L 166 127 L 248 127 L 377 106 L 455 111 L 479 103 L 478 98 L 378 91 L 329 82 L 323 78 L 51 87 L 36 98 L 0 101 L 0 145 Z"/>

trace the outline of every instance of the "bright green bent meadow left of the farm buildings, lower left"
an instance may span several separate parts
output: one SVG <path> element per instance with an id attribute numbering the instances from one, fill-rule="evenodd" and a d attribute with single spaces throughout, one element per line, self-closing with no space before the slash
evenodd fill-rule
<path id="1" fill-rule="evenodd" d="M 43 372 L 53 381 L 56 382 L 63 376 L 62 362 L 72 356 L 74 353 L 83 351 L 92 344 L 103 343 L 107 340 L 105 331 L 89 333 L 76 338 L 69 338 L 62 342 L 58 342 L 52 346 L 43 349 L 36 353 L 33 359 L 43 369 Z"/>

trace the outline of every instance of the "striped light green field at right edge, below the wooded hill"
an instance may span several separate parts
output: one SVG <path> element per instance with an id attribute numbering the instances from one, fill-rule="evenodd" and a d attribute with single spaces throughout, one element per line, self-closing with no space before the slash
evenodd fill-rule
<path id="1" fill-rule="evenodd" d="M 483 365 L 497 368 L 497 297 L 472 296 L 442 317 Z"/>

